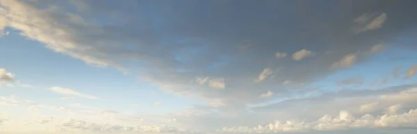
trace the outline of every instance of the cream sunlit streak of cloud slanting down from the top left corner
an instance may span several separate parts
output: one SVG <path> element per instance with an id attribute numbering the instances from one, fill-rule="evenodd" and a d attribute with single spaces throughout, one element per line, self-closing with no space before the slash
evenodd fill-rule
<path id="1" fill-rule="evenodd" d="M 20 35 L 28 39 L 42 42 L 53 51 L 81 59 L 90 65 L 124 69 L 117 62 L 103 58 L 106 57 L 106 54 L 97 48 L 85 45 L 92 43 L 90 39 L 85 37 L 99 35 L 100 31 L 83 24 L 81 17 L 62 12 L 58 8 L 51 8 L 51 6 L 39 10 L 37 6 L 24 1 L 0 1 L 0 4 L 3 14 L 3 17 L 0 18 L 0 28 L 14 28 L 21 32 Z M 76 29 L 72 28 L 89 30 L 85 31 L 83 35 L 75 35 L 74 30 L 76 31 Z M 74 37 L 77 39 L 73 40 Z"/>

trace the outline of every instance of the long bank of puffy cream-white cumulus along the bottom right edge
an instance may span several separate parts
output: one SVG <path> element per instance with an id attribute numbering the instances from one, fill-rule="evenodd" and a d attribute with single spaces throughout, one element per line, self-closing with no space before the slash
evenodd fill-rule
<path id="1" fill-rule="evenodd" d="M 297 122 L 296 122 L 297 121 Z M 353 128 L 398 128 L 413 127 L 417 125 L 417 109 L 395 115 L 363 115 L 354 117 L 350 112 L 341 110 L 338 117 L 325 115 L 313 122 L 300 120 L 276 121 L 265 126 L 224 127 L 220 132 L 229 133 L 282 133 L 282 132 L 311 132 L 311 131 L 346 131 Z"/>

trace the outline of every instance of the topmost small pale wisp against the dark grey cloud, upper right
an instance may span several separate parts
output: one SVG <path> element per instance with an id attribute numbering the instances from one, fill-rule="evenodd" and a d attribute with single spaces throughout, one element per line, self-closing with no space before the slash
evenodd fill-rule
<path id="1" fill-rule="evenodd" d="M 354 33 L 375 30 L 377 28 L 382 28 L 382 25 L 386 22 L 386 13 L 365 13 L 354 19 L 353 22 L 357 24 L 357 26 L 354 27 Z"/>

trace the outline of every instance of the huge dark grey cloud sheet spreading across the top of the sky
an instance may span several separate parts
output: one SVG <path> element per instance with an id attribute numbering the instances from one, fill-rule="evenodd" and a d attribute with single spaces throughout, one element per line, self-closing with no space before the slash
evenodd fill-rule
<path id="1" fill-rule="evenodd" d="M 291 92 L 291 88 L 281 85 L 282 81 L 309 85 L 340 67 L 353 65 L 352 58 L 343 60 L 345 56 L 369 51 L 374 44 L 406 34 L 417 22 L 414 16 L 404 13 L 416 12 L 411 6 L 413 1 L 332 1 L 322 5 L 316 1 L 75 1 L 67 4 L 2 0 L 0 5 L 7 16 L 0 19 L 7 22 L 3 27 L 42 42 L 52 51 L 90 65 L 139 74 L 140 80 L 158 85 L 165 92 L 205 101 L 211 106 L 238 108 L 265 101 L 259 94 L 268 91 Z M 77 10 L 71 10 L 74 8 Z M 294 14 L 288 14 L 288 10 Z M 378 29 L 379 33 L 352 33 L 352 21 L 366 12 L 385 12 L 388 19 Z M 97 15 L 106 17 L 97 18 Z M 97 24 L 102 19 L 108 23 Z M 395 21 L 390 22 L 391 19 Z M 291 53 L 300 49 L 317 54 L 302 62 L 276 60 L 274 56 L 277 51 Z M 337 53 L 322 54 L 326 51 Z M 360 64 L 366 58 L 356 56 L 354 63 Z M 132 67 L 136 65 L 129 64 L 132 62 L 140 62 L 142 66 Z M 332 65 L 337 69 L 329 70 Z M 254 82 L 265 67 L 280 69 L 270 81 Z M 224 78 L 227 89 L 211 90 L 212 87 L 190 82 L 196 76 Z"/>

